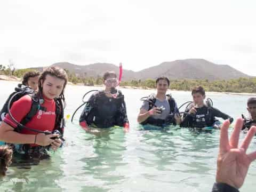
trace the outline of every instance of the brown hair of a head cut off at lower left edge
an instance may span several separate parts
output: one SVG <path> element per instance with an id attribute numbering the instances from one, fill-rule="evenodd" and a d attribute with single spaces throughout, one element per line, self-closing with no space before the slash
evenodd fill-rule
<path id="1" fill-rule="evenodd" d="M 0 146 L 0 179 L 6 175 L 6 171 L 11 163 L 12 149 L 8 146 Z"/>

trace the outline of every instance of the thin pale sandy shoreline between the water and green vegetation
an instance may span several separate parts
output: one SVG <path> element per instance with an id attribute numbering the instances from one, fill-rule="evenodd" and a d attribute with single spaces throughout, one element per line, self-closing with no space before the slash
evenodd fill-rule
<path id="1" fill-rule="evenodd" d="M 10 82 L 21 82 L 21 78 L 18 77 L 14 77 L 14 76 L 6 76 L 6 75 L 0 75 L 0 81 L 10 81 Z M 68 82 L 67 85 L 71 85 L 71 86 L 86 86 L 86 87 L 103 87 L 103 85 L 93 85 L 93 86 L 88 86 L 88 85 L 83 85 L 81 83 L 78 84 L 74 84 L 72 82 Z M 122 89 L 130 89 L 130 90 L 155 90 L 152 88 L 147 87 L 147 89 L 143 89 L 143 87 L 134 87 L 134 86 L 120 86 Z M 191 92 L 191 91 L 184 91 L 184 90 L 170 90 L 168 89 L 168 91 L 171 92 Z M 214 92 L 214 91 L 207 91 L 207 94 L 228 94 L 228 95 L 255 95 L 256 93 L 235 93 L 235 92 Z"/>

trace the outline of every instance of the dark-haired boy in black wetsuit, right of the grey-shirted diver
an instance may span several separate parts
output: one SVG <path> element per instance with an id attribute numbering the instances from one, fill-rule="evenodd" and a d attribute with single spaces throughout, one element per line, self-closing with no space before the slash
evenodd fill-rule
<path id="1" fill-rule="evenodd" d="M 215 127 L 219 128 L 220 122 L 215 117 L 222 119 L 229 119 L 230 123 L 233 118 L 229 115 L 222 113 L 220 110 L 207 106 L 204 103 L 205 91 L 202 86 L 196 86 L 192 90 L 193 102 L 187 107 L 182 117 L 181 127 Z"/>

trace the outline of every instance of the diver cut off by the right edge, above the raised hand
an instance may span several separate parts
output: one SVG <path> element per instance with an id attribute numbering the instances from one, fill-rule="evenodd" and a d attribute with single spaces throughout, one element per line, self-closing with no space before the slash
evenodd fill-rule
<path id="1" fill-rule="evenodd" d="M 242 130 L 249 130 L 252 125 L 256 125 L 256 98 L 249 98 L 247 100 L 247 110 L 249 118 L 244 118 L 244 125 Z"/>

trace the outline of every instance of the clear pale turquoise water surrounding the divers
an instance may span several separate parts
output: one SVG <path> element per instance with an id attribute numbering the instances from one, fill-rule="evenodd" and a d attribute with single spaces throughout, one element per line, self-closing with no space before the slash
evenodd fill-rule
<path id="1" fill-rule="evenodd" d="M 2 101 L 16 84 L 0 81 Z M 66 115 L 73 114 L 81 105 L 82 95 L 91 89 L 67 87 Z M 51 152 L 50 160 L 41 161 L 31 169 L 10 167 L 7 177 L 0 181 L 1 191 L 211 191 L 219 130 L 195 132 L 170 127 L 163 131 L 143 131 L 136 122 L 139 98 L 152 91 L 122 91 L 131 124 L 129 133 L 112 128 L 93 135 L 71 124 L 69 119 L 65 146 Z M 178 105 L 191 99 L 190 92 L 171 93 Z M 207 97 L 215 107 L 233 117 L 246 114 L 247 95 L 207 94 Z M 79 112 L 75 116 L 76 124 L 78 117 Z M 253 149 L 256 149 L 255 140 L 249 151 Z M 255 191 L 255 165 L 256 162 L 251 164 L 241 191 Z"/>

